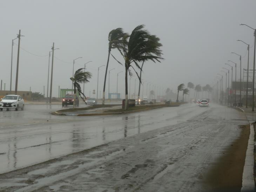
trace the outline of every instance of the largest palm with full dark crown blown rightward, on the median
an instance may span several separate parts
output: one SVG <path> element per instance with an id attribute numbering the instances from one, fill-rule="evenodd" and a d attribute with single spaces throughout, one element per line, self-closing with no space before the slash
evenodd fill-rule
<path id="1" fill-rule="evenodd" d="M 128 109 L 128 72 L 131 76 L 132 72 L 130 67 L 132 67 L 135 71 L 132 64 L 134 63 L 136 67 L 141 69 L 138 62 L 148 60 L 160 62 L 160 59 L 163 59 L 161 58 L 162 50 L 159 49 L 159 46 L 152 45 L 151 41 L 148 40 L 151 35 L 143 28 L 144 25 L 139 25 L 135 27 L 130 36 L 125 34 L 122 37 L 122 47 L 118 49 L 124 58 L 125 66 L 125 110 Z M 119 62 L 119 64 L 121 64 L 121 62 Z M 141 82 L 139 74 L 136 71 L 135 73 Z"/>

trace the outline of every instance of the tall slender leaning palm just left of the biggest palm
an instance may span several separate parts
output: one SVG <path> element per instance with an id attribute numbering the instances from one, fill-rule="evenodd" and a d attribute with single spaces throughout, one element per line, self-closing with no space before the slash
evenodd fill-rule
<path id="1" fill-rule="evenodd" d="M 104 86 L 103 86 L 103 97 L 102 97 L 102 105 L 105 104 L 105 88 L 106 88 L 106 79 L 107 79 L 107 72 L 108 72 L 108 62 L 109 62 L 109 56 L 112 49 L 119 49 L 122 43 L 122 37 L 126 35 L 123 32 L 122 28 L 116 28 L 109 32 L 108 34 L 108 60 L 107 60 L 107 66 L 106 66 L 106 73 L 105 73 L 105 79 L 104 79 Z"/>

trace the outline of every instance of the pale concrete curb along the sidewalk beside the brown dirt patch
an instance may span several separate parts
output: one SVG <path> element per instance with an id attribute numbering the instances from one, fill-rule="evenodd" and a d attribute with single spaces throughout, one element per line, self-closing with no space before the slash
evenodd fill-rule
<path id="1" fill-rule="evenodd" d="M 241 192 L 255 191 L 254 182 L 254 125 L 250 124 L 250 136 L 243 168 Z"/>

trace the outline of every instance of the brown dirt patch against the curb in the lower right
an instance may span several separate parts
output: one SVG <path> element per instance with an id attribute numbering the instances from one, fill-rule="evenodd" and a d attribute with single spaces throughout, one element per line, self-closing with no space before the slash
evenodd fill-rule
<path id="1" fill-rule="evenodd" d="M 241 136 L 223 151 L 222 157 L 210 169 L 206 183 L 213 191 L 240 192 L 243 167 L 250 135 L 250 125 L 240 126 Z"/>

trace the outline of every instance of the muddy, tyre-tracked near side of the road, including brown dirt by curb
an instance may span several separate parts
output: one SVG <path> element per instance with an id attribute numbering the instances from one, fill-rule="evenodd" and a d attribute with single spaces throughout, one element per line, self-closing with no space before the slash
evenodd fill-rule
<path id="1" fill-rule="evenodd" d="M 0 189 L 93 192 L 239 189 L 239 182 L 232 185 L 230 181 L 242 180 L 240 168 L 233 168 L 244 162 L 246 148 L 238 145 L 242 142 L 245 146 L 248 142 L 247 128 L 239 126 L 243 124 L 247 121 L 241 112 L 211 107 L 200 116 L 176 125 L 1 174 Z M 226 178 L 231 175 L 232 178 Z"/>

